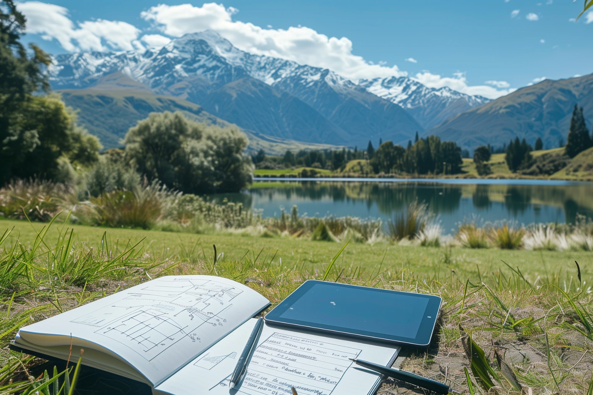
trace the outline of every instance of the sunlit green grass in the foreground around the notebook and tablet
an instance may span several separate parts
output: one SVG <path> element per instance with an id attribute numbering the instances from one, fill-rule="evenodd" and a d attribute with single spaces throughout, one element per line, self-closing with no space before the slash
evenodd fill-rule
<path id="1" fill-rule="evenodd" d="M 31 376 L 42 383 L 40 375 L 51 369 L 47 362 L 7 350 L 18 327 L 171 273 L 233 278 L 273 305 L 311 278 L 440 295 L 444 304 L 431 347 L 406 349 L 401 368 L 466 393 L 464 368 L 475 393 L 486 393 L 490 384 L 484 383 L 491 382 L 499 394 L 518 394 L 519 385 L 524 393 L 531 387 L 534 394 L 584 395 L 591 382 L 593 256 L 585 251 L 350 242 L 336 257 L 340 244 L 302 238 L 68 227 L 0 221 L 0 229 L 12 230 L 3 237 L 0 262 L 14 262 L 16 256 L 25 263 L 1 274 L 8 278 L 0 292 L 0 365 L 15 367 L 9 372 L 13 383 Z M 142 393 L 133 383 L 113 380 L 119 379 L 81 369 L 77 385 L 88 394 L 107 388 L 113 394 Z M 387 381 L 379 393 L 417 391 Z"/>

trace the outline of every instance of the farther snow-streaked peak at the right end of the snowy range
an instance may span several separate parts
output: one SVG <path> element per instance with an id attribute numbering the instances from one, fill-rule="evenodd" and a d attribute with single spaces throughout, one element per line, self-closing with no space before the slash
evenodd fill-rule
<path id="1" fill-rule="evenodd" d="M 370 93 L 403 107 L 427 130 L 490 101 L 489 98 L 467 95 L 448 87 L 429 88 L 408 77 L 362 79 L 358 84 Z"/>

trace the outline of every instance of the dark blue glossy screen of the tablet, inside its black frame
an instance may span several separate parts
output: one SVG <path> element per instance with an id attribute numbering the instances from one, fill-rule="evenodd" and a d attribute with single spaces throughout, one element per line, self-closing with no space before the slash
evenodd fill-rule
<path id="1" fill-rule="evenodd" d="M 415 338 L 428 298 L 315 284 L 281 318 Z"/>

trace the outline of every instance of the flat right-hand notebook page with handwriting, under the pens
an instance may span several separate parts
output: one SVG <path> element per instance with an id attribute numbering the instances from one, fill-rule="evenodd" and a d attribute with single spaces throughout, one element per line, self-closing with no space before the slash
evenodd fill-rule
<path id="1" fill-rule="evenodd" d="M 232 371 L 255 323 L 244 323 L 154 393 L 291 395 L 294 386 L 299 395 L 369 394 L 377 389 L 380 376 L 356 367 L 348 358 L 390 365 L 400 349 L 264 326 L 240 388 L 230 390 Z"/>

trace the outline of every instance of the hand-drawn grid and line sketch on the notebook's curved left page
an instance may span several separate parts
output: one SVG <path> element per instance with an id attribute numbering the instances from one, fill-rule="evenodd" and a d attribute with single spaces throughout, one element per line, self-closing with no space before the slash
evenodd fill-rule
<path id="1" fill-rule="evenodd" d="M 71 322 L 97 327 L 95 333 L 151 361 L 186 336 L 199 342 L 196 330 L 202 325 L 224 326 L 224 312 L 241 292 L 207 279 L 163 279 L 140 291 L 122 292 L 122 300 Z"/>

